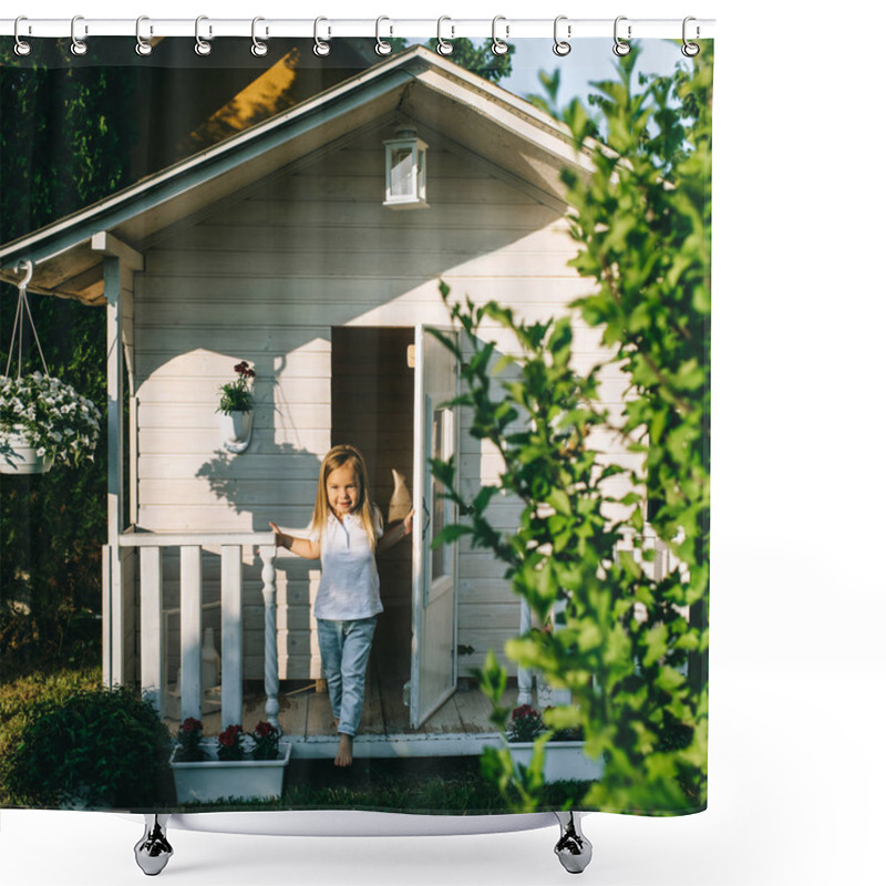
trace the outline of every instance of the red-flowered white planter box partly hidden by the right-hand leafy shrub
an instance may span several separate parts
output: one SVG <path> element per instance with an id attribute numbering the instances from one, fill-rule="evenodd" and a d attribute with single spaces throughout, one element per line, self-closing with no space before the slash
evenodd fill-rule
<path id="1" fill-rule="evenodd" d="M 535 740 L 545 732 L 544 718 L 535 708 L 530 704 L 514 708 L 505 729 L 505 738 L 514 763 L 528 766 L 535 750 Z M 602 774 L 602 761 L 585 754 L 585 742 L 579 729 L 564 729 L 550 733 L 544 753 L 546 782 L 591 781 Z"/>

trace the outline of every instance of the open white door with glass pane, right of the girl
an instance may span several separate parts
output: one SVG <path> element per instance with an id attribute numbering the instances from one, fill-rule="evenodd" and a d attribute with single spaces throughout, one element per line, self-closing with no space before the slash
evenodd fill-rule
<path id="1" fill-rule="evenodd" d="M 446 332 L 446 334 L 455 334 Z M 431 476 L 431 459 L 457 459 L 459 364 L 427 327 L 415 329 L 415 457 L 413 477 L 412 671 L 410 723 L 418 729 L 455 691 L 457 545 L 431 542 L 457 515 Z"/>

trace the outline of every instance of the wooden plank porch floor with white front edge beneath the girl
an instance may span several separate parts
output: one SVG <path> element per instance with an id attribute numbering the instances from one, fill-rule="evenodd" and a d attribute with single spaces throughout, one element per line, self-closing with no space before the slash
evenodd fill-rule
<path id="1" fill-rule="evenodd" d="M 508 688 L 505 703 L 516 703 L 516 688 Z M 293 744 L 293 756 L 334 756 L 338 744 L 329 696 L 318 692 L 313 683 L 289 689 L 279 694 L 280 730 Z M 265 694 L 257 684 L 244 690 L 244 730 L 267 719 Z M 173 711 L 169 711 L 172 714 Z M 446 756 L 480 754 L 484 746 L 498 741 L 496 728 L 490 720 L 492 703 L 471 688 L 456 691 L 419 729 L 409 724 L 409 708 L 403 704 L 403 681 L 382 680 L 370 669 L 360 731 L 354 739 L 354 753 L 362 756 Z M 205 735 L 217 735 L 224 728 L 219 711 L 202 715 Z M 178 729 L 177 719 L 167 715 L 171 732 Z"/>

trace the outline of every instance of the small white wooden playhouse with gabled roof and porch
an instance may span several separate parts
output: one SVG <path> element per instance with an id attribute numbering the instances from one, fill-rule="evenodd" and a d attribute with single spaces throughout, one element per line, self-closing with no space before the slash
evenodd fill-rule
<path id="1" fill-rule="evenodd" d="M 383 205 L 384 142 L 404 124 L 427 146 L 422 208 Z M 457 373 L 425 328 L 449 324 L 441 279 L 453 298 L 532 318 L 589 290 L 566 266 L 567 165 L 591 172 L 564 127 L 418 47 L 0 250 L 8 278 L 31 259 L 34 291 L 105 306 L 109 682 L 138 681 L 165 704 L 181 668 L 181 714 L 199 717 L 207 626 L 225 723 L 243 722 L 244 680 L 265 681 L 276 718 L 279 680 L 320 677 L 315 565 L 277 554 L 268 521 L 307 526 L 339 442 L 364 451 L 385 513 L 394 471 L 416 508 L 412 548 L 381 563 L 375 642 L 382 677 L 406 686 L 404 730 L 488 648 L 501 655 L 521 627 L 502 566 L 467 543 L 430 550 L 456 515 L 426 456 L 454 453 L 466 487 L 496 463 L 445 408 Z M 593 330 L 577 350 L 586 364 L 602 354 Z M 241 360 L 257 406 L 233 454 L 215 411 Z M 606 399 L 622 395 L 614 373 Z M 503 526 L 518 514 L 495 507 Z"/>

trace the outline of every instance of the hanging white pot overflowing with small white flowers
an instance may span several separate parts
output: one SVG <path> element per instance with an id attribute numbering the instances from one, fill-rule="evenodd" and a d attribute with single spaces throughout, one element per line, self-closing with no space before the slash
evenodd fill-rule
<path id="1" fill-rule="evenodd" d="M 93 459 L 101 413 L 70 384 L 41 372 L 0 377 L 0 473 L 42 474 Z"/>

